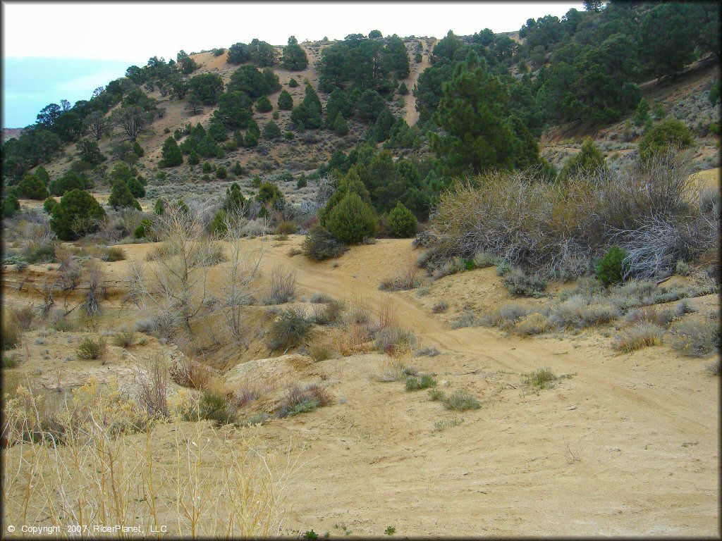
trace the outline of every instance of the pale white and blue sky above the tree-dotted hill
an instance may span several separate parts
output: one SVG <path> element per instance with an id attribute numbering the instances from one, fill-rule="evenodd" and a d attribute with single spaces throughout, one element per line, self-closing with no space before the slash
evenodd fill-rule
<path id="1" fill-rule="evenodd" d="M 143 66 L 151 56 L 174 58 L 214 47 L 227 48 L 253 38 L 283 45 L 342 39 L 380 30 L 442 38 L 448 30 L 469 35 L 484 28 L 518 30 L 526 19 L 562 17 L 577 2 L 476 3 L 65 3 L 3 2 L 3 126 L 26 126 L 38 110 L 66 98 L 88 99 L 95 87 Z M 39 61 L 21 61 L 39 58 Z M 8 61 L 8 59 L 12 59 Z M 52 60 L 51 60 L 52 59 Z M 79 60 L 112 61 L 82 63 Z M 121 67 L 121 64 L 124 66 Z M 48 66 L 55 69 L 43 69 Z M 62 69 L 58 69 L 62 67 Z M 32 75 L 33 71 L 41 71 Z M 47 73 L 46 73 L 47 72 Z"/>

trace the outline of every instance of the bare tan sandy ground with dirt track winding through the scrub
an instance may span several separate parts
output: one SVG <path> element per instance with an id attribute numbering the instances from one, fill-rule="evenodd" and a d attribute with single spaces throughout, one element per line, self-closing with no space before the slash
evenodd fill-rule
<path id="1" fill-rule="evenodd" d="M 289 441 L 295 449 L 306 447 L 305 465 L 287 494 L 292 529 L 382 535 L 392 526 L 401 536 L 719 535 L 719 379 L 705 372 L 710 358 L 683 357 L 666 346 L 620 354 L 612 338 L 596 330 L 539 338 L 482 327 L 449 330 L 444 320 L 451 316 L 432 315 L 433 302 L 445 299 L 451 311 L 505 302 L 490 269 L 436 281 L 419 300 L 411 291 L 378 291 L 383 278 L 417 256 L 408 240 L 354 247 L 334 267 L 289 257 L 302 238 L 268 243 L 266 276 L 274 263 L 283 263 L 297 271 L 302 296 L 361 297 L 374 310 L 390 300 L 401 325 L 416 333 L 417 346 L 441 351 L 409 364 L 435 373 L 445 392 L 467 390 L 483 405 L 453 413 L 425 391 L 378 382 L 388 362 L 378 353 L 317 364 L 303 356 L 253 361 L 258 377 L 320 382 L 336 399 L 313 413 L 246 429 L 269 452 L 281 452 Z M 142 258 L 151 247 L 123 250 Z M 105 265 L 120 278 L 127 262 Z M 716 309 L 717 299 L 694 304 Z M 134 313 L 126 308 L 125 317 Z M 535 394 L 521 375 L 541 366 L 571 377 Z M 243 365 L 231 369 L 228 383 L 243 372 Z M 434 430 L 435 421 L 450 419 L 463 422 Z M 168 437 L 158 431 L 154 441 Z"/>

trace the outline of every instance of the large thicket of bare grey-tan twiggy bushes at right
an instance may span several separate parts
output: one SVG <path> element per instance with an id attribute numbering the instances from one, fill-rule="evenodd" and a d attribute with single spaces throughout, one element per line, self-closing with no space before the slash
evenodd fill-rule
<path id="1" fill-rule="evenodd" d="M 589 273 L 593 259 L 617 244 L 629 254 L 627 278 L 667 276 L 677 260 L 693 262 L 718 245 L 718 205 L 702 203 L 690 167 L 689 155 L 671 149 L 627 170 L 567 182 L 535 172 L 461 181 L 441 195 L 428 244 L 437 259 L 486 252 L 564 279 Z"/>

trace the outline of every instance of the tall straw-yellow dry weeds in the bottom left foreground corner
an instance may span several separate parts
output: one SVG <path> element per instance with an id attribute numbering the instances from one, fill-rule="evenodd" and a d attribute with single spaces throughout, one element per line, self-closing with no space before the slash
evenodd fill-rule
<path id="1" fill-rule="evenodd" d="M 290 453 L 277 462 L 204 421 L 143 421 L 146 433 L 136 434 L 140 408 L 94 380 L 61 402 L 52 430 L 43 408 L 43 397 L 24 388 L 6 403 L 2 507 L 10 524 L 139 526 L 139 537 L 163 524 L 178 537 L 221 539 L 286 527 L 284 492 L 298 467 Z"/>

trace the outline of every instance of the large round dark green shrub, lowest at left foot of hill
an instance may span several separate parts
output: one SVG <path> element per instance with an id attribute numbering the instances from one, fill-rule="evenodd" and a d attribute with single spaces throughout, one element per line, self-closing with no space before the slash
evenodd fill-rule
<path id="1" fill-rule="evenodd" d="M 100 203 L 90 193 L 76 189 L 63 195 L 53 208 L 50 225 L 58 239 L 75 240 L 97 231 L 103 219 L 105 211 Z"/>

